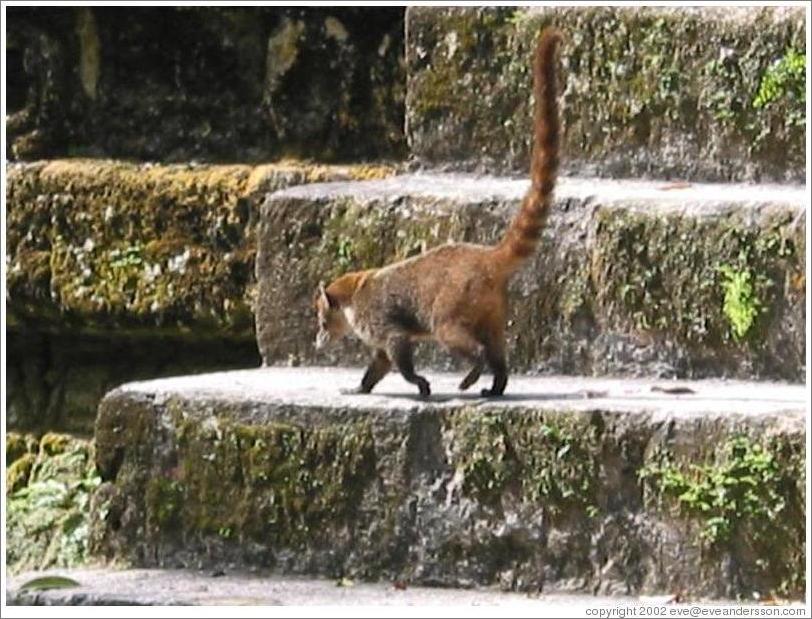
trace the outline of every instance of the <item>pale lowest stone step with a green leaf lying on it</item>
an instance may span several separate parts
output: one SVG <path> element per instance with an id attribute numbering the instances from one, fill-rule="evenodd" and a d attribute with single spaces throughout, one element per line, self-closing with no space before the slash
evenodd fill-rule
<path id="1" fill-rule="evenodd" d="M 35 578 L 60 576 L 78 585 L 64 589 L 26 590 Z M 267 572 L 195 570 L 69 569 L 27 572 L 9 579 L 9 605 L 26 606 L 521 606 L 554 616 L 565 609 L 607 607 L 617 604 L 657 603 L 649 598 L 588 594 L 523 595 L 489 589 L 396 588 L 392 583 L 327 580 L 269 575 Z M 339 586 L 337 586 L 337 584 Z"/>

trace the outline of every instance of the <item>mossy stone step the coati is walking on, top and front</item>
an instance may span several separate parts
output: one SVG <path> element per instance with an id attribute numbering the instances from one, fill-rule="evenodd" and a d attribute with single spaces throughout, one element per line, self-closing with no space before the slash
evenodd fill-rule
<path id="1" fill-rule="evenodd" d="M 801 595 L 803 386 L 514 377 L 483 400 L 431 373 L 428 400 L 394 375 L 339 395 L 360 372 L 110 392 L 91 551 L 413 585 Z"/>

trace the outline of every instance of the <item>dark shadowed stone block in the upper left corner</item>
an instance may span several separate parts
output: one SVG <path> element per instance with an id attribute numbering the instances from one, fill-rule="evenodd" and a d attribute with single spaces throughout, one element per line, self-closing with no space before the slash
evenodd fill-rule
<path id="1" fill-rule="evenodd" d="M 396 157 L 401 7 L 11 7 L 9 155 Z"/>

